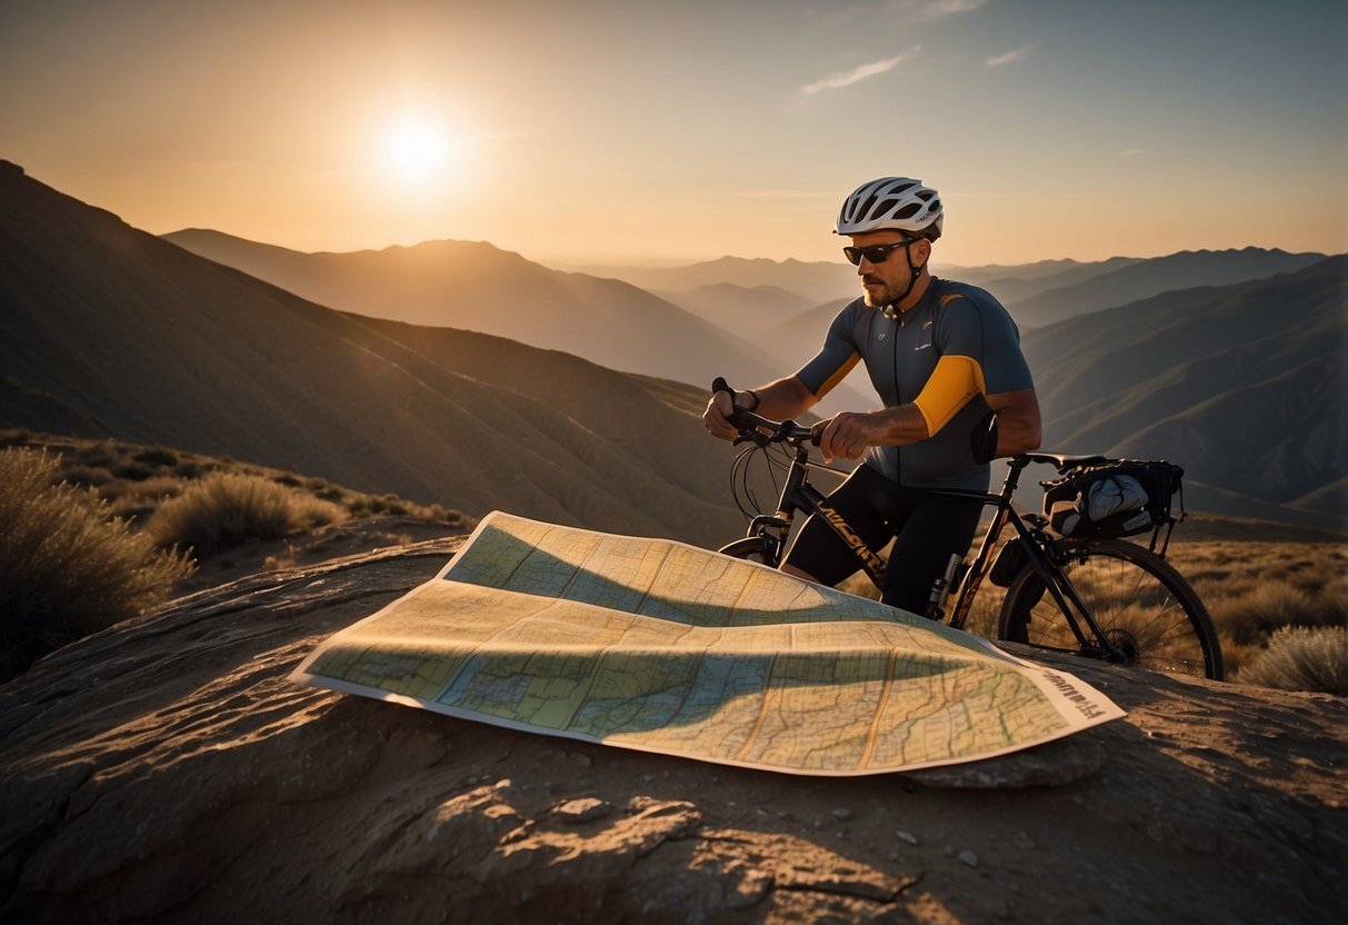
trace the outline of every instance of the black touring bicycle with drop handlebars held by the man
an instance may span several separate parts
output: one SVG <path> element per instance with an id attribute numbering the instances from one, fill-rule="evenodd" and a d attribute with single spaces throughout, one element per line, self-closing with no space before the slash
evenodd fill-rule
<path id="1" fill-rule="evenodd" d="M 865 546 L 824 492 L 810 483 L 813 468 L 837 472 L 810 460 L 810 446 L 817 442 L 811 429 L 794 421 L 770 421 L 743 409 L 731 422 L 740 430 L 736 442 L 751 444 L 736 456 L 731 468 L 736 503 L 751 520 L 741 539 L 718 551 L 778 568 L 795 515 L 802 511 L 818 514 L 852 549 L 860 570 L 879 588 L 884 558 Z M 783 446 L 790 458 L 772 460 L 771 449 Z M 774 514 L 756 510 L 751 514 L 739 491 L 740 484 L 747 489 L 748 460 L 760 450 L 775 468 L 786 468 Z M 979 500 L 992 507 L 993 514 L 972 562 L 952 556 L 945 574 L 933 583 L 926 616 L 946 620 L 945 604 L 953 596 L 948 623 L 962 630 L 979 588 L 984 580 L 992 580 L 1007 588 L 998 614 L 999 640 L 1223 680 L 1221 646 L 1212 618 L 1189 583 L 1165 558 L 1169 531 L 1157 550 L 1162 525 L 1153 531 L 1150 547 L 1116 538 L 1066 539 L 1047 530 L 1045 516 L 1015 508 L 1020 475 L 1031 464 L 1053 465 L 1060 475 L 1068 475 L 1109 461 L 1099 454 L 1020 453 L 1006 460 L 1007 476 L 1000 492 L 934 489 L 952 498 Z M 752 492 L 748 495 L 752 502 Z M 1007 526 L 1015 537 L 1002 543 Z M 1174 520 L 1166 526 L 1173 529 Z"/>

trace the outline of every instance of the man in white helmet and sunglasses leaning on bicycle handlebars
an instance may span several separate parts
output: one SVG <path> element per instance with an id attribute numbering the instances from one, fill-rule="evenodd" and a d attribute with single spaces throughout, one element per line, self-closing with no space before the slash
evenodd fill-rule
<path id="1" fill-rule="evenodd" d="M 1020 337 L 1006 309 L 975 286 L 933 276 L 941 198 L 921 181 L 883 177 L 842 202 L 834 233 L 849 237 L 863 295 L 828 329 L 820 353 L 795 375 L 735 392 L 716 392 L 702 421 L 733 440 L 731 405 L 785 419 L 813 407 L 860 361 L 883 400 L 875 411 L 844 411 L 814 426 L 825 461 L 865 461 L 829 495 L 875 550 L 895 538 L 884 574 L 886 604 L 923 614 L 931 583 L 973 539 L 981 504 L 931 488 L 987 491 L 987 461 L 971 433 L 995 418 L 998 456 L 1039 446 L 1039 403 Z M 836 585 L 857 561 L 817 515 L 791 543 L 782 570 Z"/>

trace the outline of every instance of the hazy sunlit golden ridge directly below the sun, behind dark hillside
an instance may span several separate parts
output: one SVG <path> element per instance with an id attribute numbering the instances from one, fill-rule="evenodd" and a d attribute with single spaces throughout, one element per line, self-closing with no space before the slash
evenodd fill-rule
<path id="1" fill-rule="evenodd" d="M 760 345 L 616 279 L 566 274 L 480 241 L 301 253 L 220 232 L 166 240 L 332 309 L 473 330 L 609 369 L 710 383 L 778 375 Z"/>

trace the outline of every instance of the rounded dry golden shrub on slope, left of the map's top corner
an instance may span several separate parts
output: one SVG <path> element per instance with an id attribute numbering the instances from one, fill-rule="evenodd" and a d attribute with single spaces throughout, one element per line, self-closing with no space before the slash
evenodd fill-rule
<path id="1" fill-rule="evenodd" d="M 159 506 L 146 533 L 160 546 L 191 549 L 197 558 L 253 539 L 278 539 L 345 519 L 332 503 L 271 479 L 217 473 Z"/>

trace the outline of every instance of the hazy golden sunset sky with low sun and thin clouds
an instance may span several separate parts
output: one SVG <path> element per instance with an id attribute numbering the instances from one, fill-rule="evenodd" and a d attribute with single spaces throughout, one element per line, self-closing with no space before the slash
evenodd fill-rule
<path id="1" fill-rule="evenodd" d="M 4 0 L 0 158 L 154 233 L 946 264 L 1348 251 L 1344 0 Z M 3 204 L 0 204 L 3 208 Z"/>

